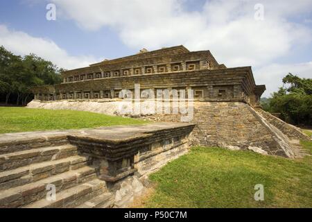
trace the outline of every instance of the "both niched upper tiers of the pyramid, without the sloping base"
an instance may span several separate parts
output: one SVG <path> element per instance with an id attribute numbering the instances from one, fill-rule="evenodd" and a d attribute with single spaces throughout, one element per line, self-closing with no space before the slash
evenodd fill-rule
<path id="1" fill-rule="evenodd" d="M 114 99 L 121 89 L 193 89 L 199 101 L 243 101 L 257 105 L 266 89 L 256 85 L 250 67 L 227 69 L 210 51 L 173 46 L 104 60 L 62 73 L 60 85 L 36 87 L 35 99 Z M 155 90 L 156 91 L 156 90 Z"/>

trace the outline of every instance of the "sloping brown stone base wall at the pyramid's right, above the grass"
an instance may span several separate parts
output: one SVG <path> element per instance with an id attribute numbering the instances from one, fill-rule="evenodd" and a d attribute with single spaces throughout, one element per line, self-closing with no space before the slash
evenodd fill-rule
<path id="1" fill-rule="evenodd" d="M 155 114 L 144 119 L 180 121 L 180 117 L 180 114 Z M 196 102 L 191 123 L 196 123 L 193 144 L 294 157 L 288 137 L 246 103 Z"/>

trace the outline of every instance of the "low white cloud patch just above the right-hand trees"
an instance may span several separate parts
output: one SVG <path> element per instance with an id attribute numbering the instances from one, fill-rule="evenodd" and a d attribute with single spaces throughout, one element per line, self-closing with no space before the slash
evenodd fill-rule
<path id="1" fill-rule="evenodd" d="M 266 85 L 266 92 L 264 92 L 263 96 L 268 97 L 283 85 L 281 79 L 288 73 L 300 76 L 301 78 L 311 78 L 312 61 L 286 65 L 272 64 L 260 69 L 254 69 L 253 73 L 257 84 Z"/>

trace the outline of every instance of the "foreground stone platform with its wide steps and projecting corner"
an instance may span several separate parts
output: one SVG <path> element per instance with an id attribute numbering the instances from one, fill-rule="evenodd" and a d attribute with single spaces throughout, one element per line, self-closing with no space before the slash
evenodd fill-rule
<path id="1" fill-rule="evenodd" d="M 189 123 L 0 135 L 0 207 L 126 207 L 189 149 Z M 55 200 L 46 198 L 55 187 Z"/>

